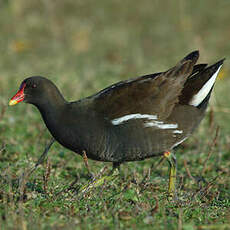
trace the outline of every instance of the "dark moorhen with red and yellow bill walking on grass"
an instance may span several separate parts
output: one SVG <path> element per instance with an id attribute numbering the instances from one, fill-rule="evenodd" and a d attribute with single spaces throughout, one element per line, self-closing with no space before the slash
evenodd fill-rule
<path id="1" fill-rule="evenodd" d="M 198 127 L 225 59 L 196 64 L 193 51 L 164 72 L 115 83 L 86 98 L 68 102 L 41 76 L 22 81 L 9 105 L 33 104 L 53 138 L 87 159 L 112 162 L 163 156 L 169 162 L 168 196 L 176 193 L 173 150 Z"/>

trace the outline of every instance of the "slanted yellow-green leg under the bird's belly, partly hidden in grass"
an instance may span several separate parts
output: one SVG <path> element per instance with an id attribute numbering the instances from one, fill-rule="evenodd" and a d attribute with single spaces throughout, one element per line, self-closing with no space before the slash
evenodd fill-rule
<path id="1" fill-rule="evenodd" d="M 99 187 L 99 186 L 103 185 L 105 182 L 109 182 L 109 181 L 114 180 L 117 177 L 117 175 L 119 174 L 119 170 L 118 170 L 119 166 L 120 166 L 119 163 L 114 163 L 113 169 L 110 171 L 110 173 L 108 175 L 102 176 L 100 178 L 94 178 L 93 180 L 91 180 L 87 184 L 81 186 L 80 189 L 78 190 L 78 193 L 84 194 L 92 188 Z"/>

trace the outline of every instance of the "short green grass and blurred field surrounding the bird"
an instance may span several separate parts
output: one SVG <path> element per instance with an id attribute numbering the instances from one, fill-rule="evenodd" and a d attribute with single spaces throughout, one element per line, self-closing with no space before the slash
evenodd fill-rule
<path id="1" fill-rule="evenodd" d="M 215 0 L 2 2 L 1 229 L 230 229 L 229 10 Z M 25 77 L 46 76 L 73 100 L 195 49 L 201 61 L 227 60 L 205 120 L 176 151 L 183 202 L 168 202 L 168 165 L 158 158 L 126 163 L 114 181 L 79 195 L 89 180 L 82 159 L 55 143 L 26 176 L 50 134 L 31 105 L 7 106 Z M 95 174 L 111 167 L 89 164 Z"/>

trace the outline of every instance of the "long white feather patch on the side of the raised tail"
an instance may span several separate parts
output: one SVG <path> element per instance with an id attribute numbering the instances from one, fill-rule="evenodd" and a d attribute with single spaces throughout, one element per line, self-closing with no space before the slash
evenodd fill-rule
<path id="1" fill-rule="evenodd" d="M 189 105 L 198 106 L 205 99 L 205 97 L 210 92 L 212 86 L 214 85 L 214 83 L 216 81 L 216 77 L 217 77 L 221 67 L 222 67 L 222 65 L 213 74 L 213 76 L 203 85 L 203 87 L 200 89 L 200 91 L 192 97 L 191 101 L 189 102 Z"/>

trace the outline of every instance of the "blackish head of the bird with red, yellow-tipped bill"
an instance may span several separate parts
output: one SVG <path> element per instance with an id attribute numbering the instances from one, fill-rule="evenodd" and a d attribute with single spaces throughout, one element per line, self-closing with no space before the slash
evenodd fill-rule
<path id="1" fill-rule="evenodd" d="M 16 105 L 21 101 L 26 103 L 40 105 L 55 101 L 63 97 L 57 87 L 48 79 L 40 76 L 26 78 L 18 90 L 11 98 L 9 105 Z"/>

